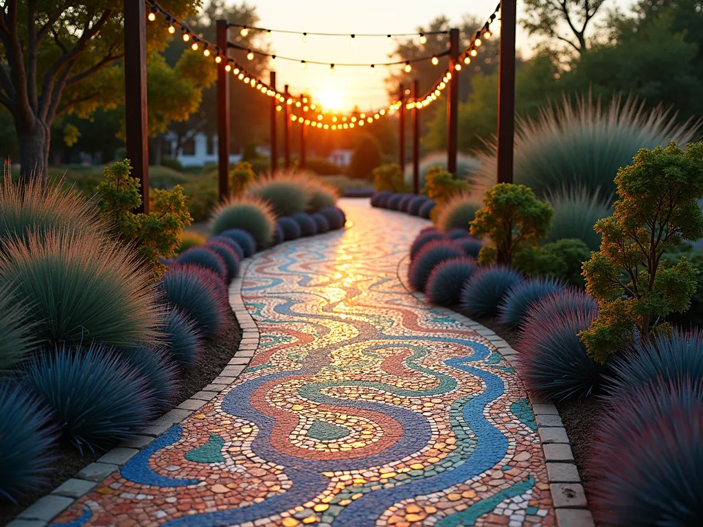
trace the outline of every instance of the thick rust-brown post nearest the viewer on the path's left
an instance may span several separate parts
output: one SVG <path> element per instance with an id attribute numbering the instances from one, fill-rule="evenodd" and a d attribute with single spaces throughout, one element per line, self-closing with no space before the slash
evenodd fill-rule
<path id="1" fill-rule="evenodd" d="M 146 9 L 143 0 L 124 2 L 124 131 L 131 176 L 141 182 L 141 207 L 149 213 L 149 132 L 146 114 Z"/>

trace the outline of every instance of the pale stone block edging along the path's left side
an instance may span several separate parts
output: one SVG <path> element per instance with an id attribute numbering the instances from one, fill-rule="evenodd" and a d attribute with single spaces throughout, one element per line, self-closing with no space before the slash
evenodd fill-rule
<path id="1" fill-rule="evenodd" d="M 242 328 L 242 340 L 239 349 L 233 358 L 224 367 L 218 377 L 205 386 L 191 398 L 169 410 L 156 419 L 152 424 L 143 429 L 136 437 L 112 448 L 96 462 L 89 464 L 78 472 L 73 478 L 60 484 L 44 497 L 34 502 L 30 507 L 20 512 L 17 517 L 7 524 L 7 527 L 46 527 L 53 518 L 58 516 L 74 502 L 89 493 L 98 483 L 103 481 L 112 472 L 120 469 L 152 441 L 167 431 L 169 428 L 186 419 L 195 410 L 199 410 L 205 403 L 209 403 L 226 389 L 254 356 L 259 347 L 259 328 L 252 315 L 250 315 L 242 299 L 242 280 L 247 267 L 252 259 L 242 261 L 240 273 L 229 285 L 229 305 Z"/>

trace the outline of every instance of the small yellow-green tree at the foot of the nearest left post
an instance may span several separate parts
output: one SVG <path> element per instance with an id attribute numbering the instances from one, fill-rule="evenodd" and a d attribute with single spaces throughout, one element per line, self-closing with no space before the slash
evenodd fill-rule
<path id="1" fill-rule="evenodd" d="M 117 228 L 120 239 L 134 243 L 143 259 L 154 268 L 155 277 L 165 269 L 159 258 L 176 254 L 181 241 L 181 231 L 193 219 L 186 207 L 183 188 L 176 185 L 172 191 L 152 189 L 149 214 L 131 212 L 141 205 L 138 179 L 129 176 L 129 160 L 117 161 L 105 167 L 105 181 L 98 185 L 104 208 Z"/>

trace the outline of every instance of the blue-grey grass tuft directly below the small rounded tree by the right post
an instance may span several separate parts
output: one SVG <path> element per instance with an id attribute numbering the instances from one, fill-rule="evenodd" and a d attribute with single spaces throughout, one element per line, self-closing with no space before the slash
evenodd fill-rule
<path id="1" fill-rule="evenodd" d="M 479 268 L 461 288 L 461 310 L 470 316 L 494 315 L 508 289 L 522 280 L 520 273 L 512 267 L 496 265 Z"/>

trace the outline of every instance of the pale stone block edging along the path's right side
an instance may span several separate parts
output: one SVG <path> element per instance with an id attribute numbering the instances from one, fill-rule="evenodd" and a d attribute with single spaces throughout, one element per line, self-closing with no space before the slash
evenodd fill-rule
<path id="1" fill-rule="evenodd" d="M 410 258 L 406 254 L 398 263 L 398 280 L 413 297 L 424 304 L 430 304 L 427 301 L 427 297 L 425 297 L 425 293 L 413 291 L 408 284 L 409 265 Z M 518 371 L 517 351 L 512 349 L 510 344 L 499 337 L 496 332 L 449 308 L 434 304 L 430 305 L 437 313 L 452 318 L 468 329 L 477 332 L 486 341 L 495 346 L 498 353 L 501 353 L 513 369 Z M 557 516 L 557 525 L 559 527 L 594 527 L 593 516 L 591 516 L 591 511 L 588 510 L 586 493 L 583 491 L 579 471 L 576 469 L 576 464 L 574 464 L 571 444 L 562 424 L 559 411 L 552 401 L 541 401 L 529 391 L 527 391 L 527 396 L 534 410 L 537 431 L 542 442 L 542 450 L 547 466 L 547 477 Z"/>

